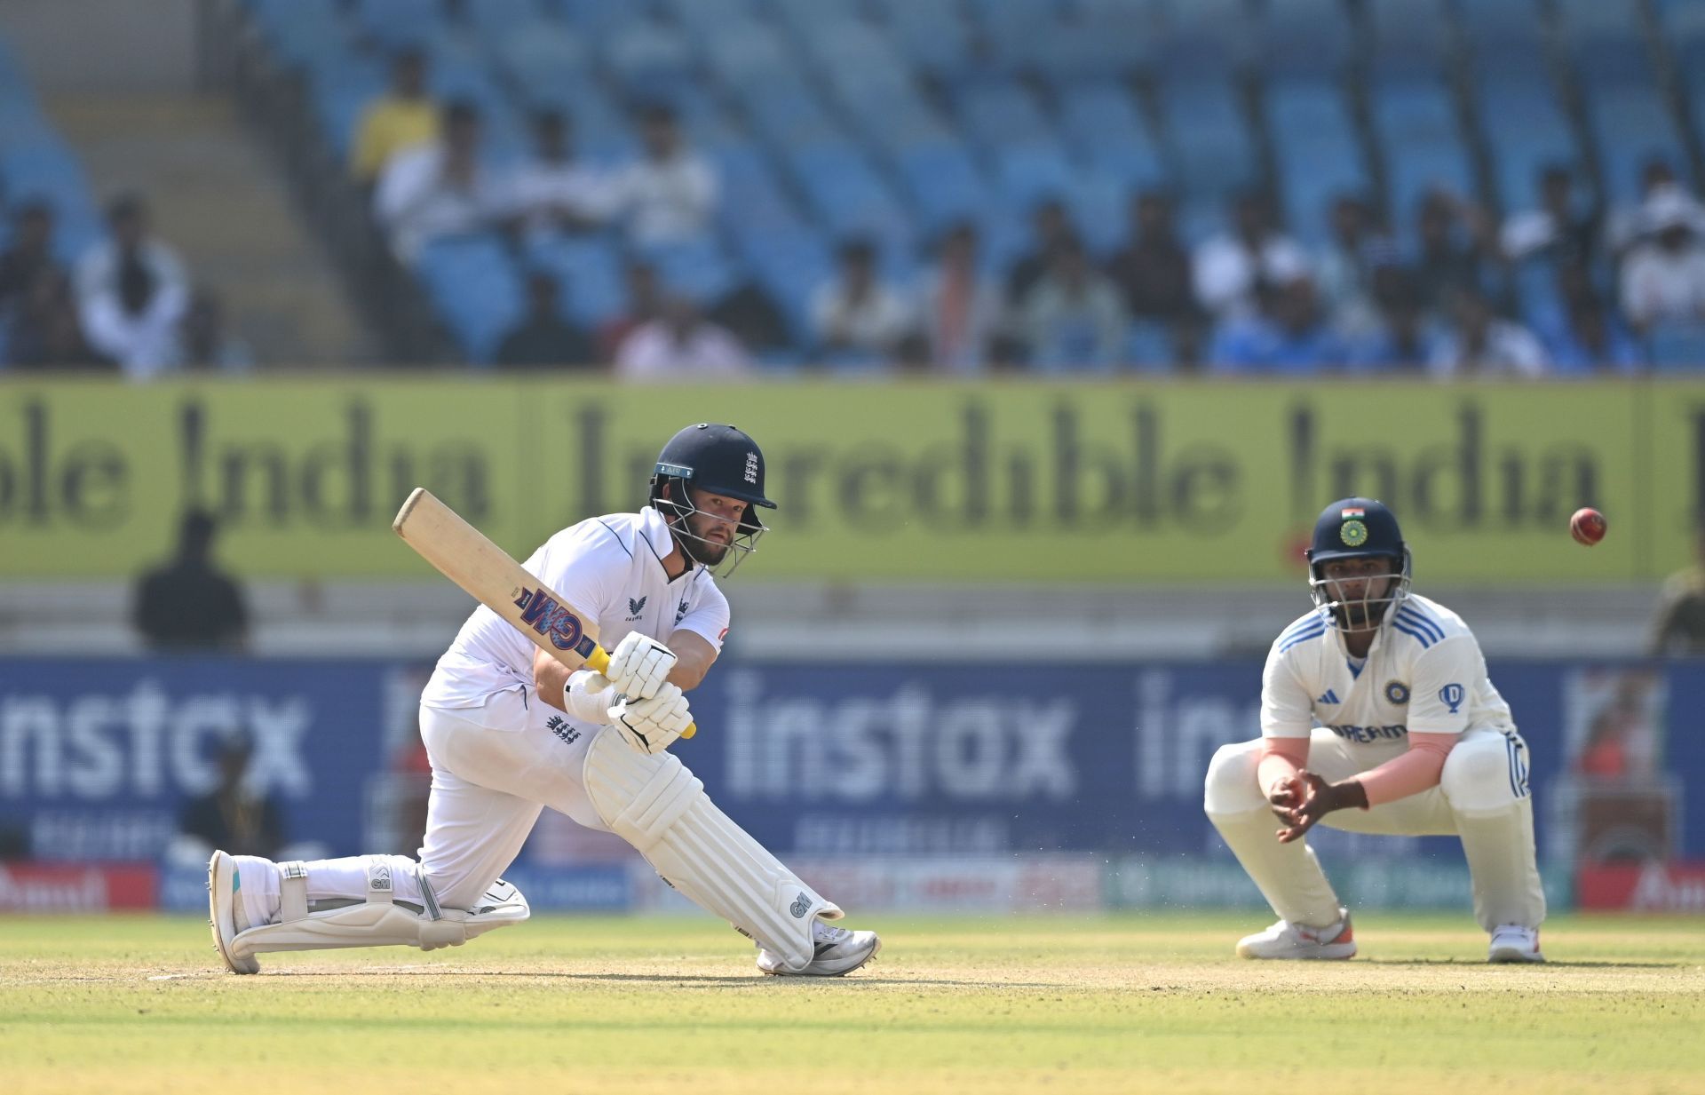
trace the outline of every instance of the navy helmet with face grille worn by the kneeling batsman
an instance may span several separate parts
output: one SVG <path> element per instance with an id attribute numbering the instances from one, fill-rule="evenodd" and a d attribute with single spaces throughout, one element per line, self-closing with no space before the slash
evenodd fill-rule
<path id="1" fill-rule="evenodd" d="M 757 537 L 767 529 L 757 519 L 757 510 L 774 510 L 776 503 L 764 496 L 764 452 L 750 437 L 735 426 L 701 421 L 668 438 L 656 457 L 651 472 L 651 507 L 663 517 L 696 563 L 716 565 L 709 554 L 720 553 L 720 544 L 709 544 L 687 530 L 685 519 L 697 512 L 687 488 L 696 486 L 725 498 L 747 503 L 740 529 L 730 549 L 735 559 L 721 573 L 731 573 L 747 554 L 757 549 Z M 682 520 L 675 520 L 682 519 Z"/>

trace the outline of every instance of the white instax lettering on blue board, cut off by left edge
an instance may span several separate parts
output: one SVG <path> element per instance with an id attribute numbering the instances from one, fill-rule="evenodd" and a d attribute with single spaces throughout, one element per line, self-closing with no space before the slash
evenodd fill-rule
<path id="1" fill-rule="evenodd" d="M 147 679 L 123 694 L 0 692 L 0 800 L 201 795 L 218 783 L 213 742 L 234 730 L 252 737 L 256 788 L 303 798 L 314 790 L 302 756 L 310 725 L 300 696 L 174 698 Z"/>

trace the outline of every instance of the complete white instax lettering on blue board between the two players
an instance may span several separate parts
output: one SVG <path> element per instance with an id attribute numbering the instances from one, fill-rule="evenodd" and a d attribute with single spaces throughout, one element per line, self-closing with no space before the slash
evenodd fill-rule
<path id="1" fill-rule="evenodd" d="M 1066 802 L 1078 706 L 1025 696 L 938 698 L 917 681 L 887 696 L 766 692 L 766 677 L 728 682 L 728 791 L 742 798 Z"/>

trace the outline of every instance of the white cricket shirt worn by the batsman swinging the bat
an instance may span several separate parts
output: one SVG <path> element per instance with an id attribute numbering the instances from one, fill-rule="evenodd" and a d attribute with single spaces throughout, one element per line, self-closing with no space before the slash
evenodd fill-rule
<path id="1" fill-rule="evenodd" d="M 663 515 L 590 517 L 563 529 L 534 551 L 523 566 L 597 624 L 598 645 L 614 650 L 629 631 L 667 643 L 685 628 L 718 652 L 728 634 L 728 599 L 702 566 L 673 582 L 663 556 L 673 549 Z M 588 626 L 590 631 L 590 626 Z M 438 658 L 421 692 L 430 708 L 477 708 L 493 692 L 532 687 L 535 646 L 486 605 L 474 609 L 455 641 Z"/>

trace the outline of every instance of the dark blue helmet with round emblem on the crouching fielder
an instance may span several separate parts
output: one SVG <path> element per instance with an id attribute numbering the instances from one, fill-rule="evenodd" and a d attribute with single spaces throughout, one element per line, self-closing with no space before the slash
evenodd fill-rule
<path id="1" fill-rule="evenodd" d="M 1308 590 L 1315 605 L 1333 623 L 1352 631 L 1383 624 L 1408 597 L 1412 559 L 1396 515 L 1374 498 L 1340 498 L 1320 512 L 1308 546 Z M 1326 563 L 1340 559 L 1390 559 L 1386 575 L 1366 573 L 1326 578 Z M 1390 582 L 1381 583 L 1383 576 Z M 1359 588 L 1357 588 L 1359 585 Z"/>

